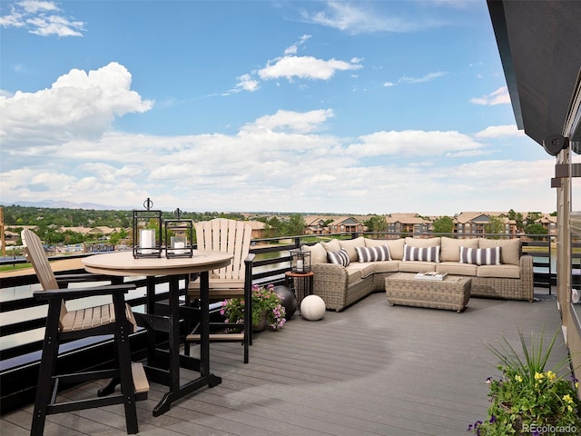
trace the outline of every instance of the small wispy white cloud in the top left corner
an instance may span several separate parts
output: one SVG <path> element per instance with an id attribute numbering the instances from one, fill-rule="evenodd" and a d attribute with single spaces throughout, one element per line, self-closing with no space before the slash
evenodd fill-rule
<path id="1" fill-rule="evenodd" d="M 11 5 L 10 14 L 0 16 L 2 27 L 24 27 L 34 35 L 82 36 L 84 22 L 63 15 L 55 2 L 25 0 Z"/>

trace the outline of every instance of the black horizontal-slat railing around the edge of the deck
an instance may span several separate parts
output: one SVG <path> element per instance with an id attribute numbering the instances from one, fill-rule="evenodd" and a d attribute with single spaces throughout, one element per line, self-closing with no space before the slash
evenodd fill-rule
<path id="1" fill-rule="evenodd" d="M 300 235 L 252 240 L 251 253 L 256 254 L 253 263 L 252 282 L 258 284 L 281 284 L 284 282 L 284 273 L 291 268 L 289 250 L 299 248 L 301 244 L 312 244 L 330 238 L 350 239 L 361 235 L 376 239 L 396 239 L 401 233 L 334 233 L 325 235 Z M 498 237 L 497 235 L 478 234 L 449 234 L 449 233 L 420 233 L 416 237 L 450 236 L 458 238 Z M 548 288 L 555 284 L 555 274 L 551 264 L 555 261 L 552 254 L 551 238 L 544 240 L 520 235 L 523 253 L 535 256 L 535 286 Z M 89 254 L 74 254 L 51 257 L 51 261 L 81 258 Z M 581 258 L 581 254 L 578 256 Z M 25 259 L 11 259 L 0 262 L 0 265 L 17 265 L 25 263 Z M 578 268 L 577 263 L 577 268 Z M 84 272 L 84 270 L 65 271 L 60 273 Z M 56 273 L 57 277 L 59 273 Z M 145 278 L 128 279 L 137 286 L 137 290 L 127 297 L 127 302 L 136 312 L 143 310 L 145 304 Z M 182 291 L 185 292 L 185 280 Z M 15 276 L 0 278 L 0 414 L 34 401 L 35 383 L 38 372 L 38 363 L 42 349 L 42 332 L 44 329 L 45 312 L 43 303 L 37 302 L 32 295 L 32 287 L 39 286 L 34 272 L 27 272 Z M 167 299 L 166 277 L 156 278 L 156 301 Z M 28 290 L 26 290 L 26 287 Z M 39 287 L 37 289 L 40 289 Z M 12 292 L 12 293 L 11 293 Z M 143 356 L 145 349 L 145 332 L 140 331 L 132 336 L 132 351 L 135 358 Z M 111 347 L 109 338 L 97 341 L 74 342 L 60 352 L 59 364 L 79 366 L 79 362 L 99 362 L 103 355 L 103 347 Z"/>

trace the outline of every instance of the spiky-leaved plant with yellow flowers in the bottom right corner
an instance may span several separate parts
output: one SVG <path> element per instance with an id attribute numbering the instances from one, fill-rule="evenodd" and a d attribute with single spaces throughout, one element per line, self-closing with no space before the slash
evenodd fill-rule
<path id="1" fill-rule="evenodd" d="M 497 369 L 502 375 L 487 378 L 491 401 L 487 420 L 470 424 L 468 431 L 479 436 L 581 434 L 581 401 L 576 393 L 579 383 L 572 375 L 569 357 L 551 370 L 545 368 L 557 333 L 544 351 L 542 333 L 537 344 L 533 336 L 527 346 L 519 331 L 522 357 L 504 336 L 499 348 L 487 344 L 499 359 Z"/>

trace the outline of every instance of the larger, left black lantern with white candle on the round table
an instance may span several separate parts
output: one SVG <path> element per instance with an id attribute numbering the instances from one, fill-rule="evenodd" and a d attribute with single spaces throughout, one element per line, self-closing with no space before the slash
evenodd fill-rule
<path id="1" fill-rule="evenodd" d="M 133 210 L 133 257 L 162 257 L 162 211 L 148 198 L 144 211 Z"/>

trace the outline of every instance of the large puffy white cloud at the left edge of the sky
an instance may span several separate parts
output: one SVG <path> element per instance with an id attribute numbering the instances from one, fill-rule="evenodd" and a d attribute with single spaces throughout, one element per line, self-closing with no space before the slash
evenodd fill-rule
<path id="1" fill-rule="evenodd" d="M 131 80 L 127 69 L 113 62 L 89 73 L 71 70 L 49 89 L 0 95 L 0 139 L 18 148 L 97 138 L 115 116 L 153 106 L 131 91 Z"/>

